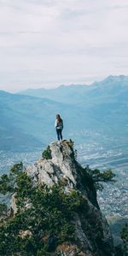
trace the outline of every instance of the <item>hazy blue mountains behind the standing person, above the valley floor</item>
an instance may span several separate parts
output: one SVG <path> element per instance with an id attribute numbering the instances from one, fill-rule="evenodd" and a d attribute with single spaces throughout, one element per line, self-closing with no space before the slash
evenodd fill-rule
<path id="1" fill-rule="evenodd" d="M 0 150 L 33 150 L 55 141 L 56 113 L 64 120 L 64 137 L 76 143 L 126 140 L 128 77 L 18 94 L 0 90 Z"/>

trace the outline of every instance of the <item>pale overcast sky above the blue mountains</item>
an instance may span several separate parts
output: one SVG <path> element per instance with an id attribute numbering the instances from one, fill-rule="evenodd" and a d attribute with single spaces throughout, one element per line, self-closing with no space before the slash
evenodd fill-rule
<path id="1" fill-rule="evenodd" d="M 127 0 L 0 0 L 0 90 L 128 75 Z"/>

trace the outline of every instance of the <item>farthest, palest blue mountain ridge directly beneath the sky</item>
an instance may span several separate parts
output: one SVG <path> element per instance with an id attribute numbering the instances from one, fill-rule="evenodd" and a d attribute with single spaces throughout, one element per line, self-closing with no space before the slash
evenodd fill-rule
<path id="1" fill-rule="evenodd" d="M 98 96 L 115 96 L 118 92 L 126 93 L 128 90 L 128 76 L 109 76 L 101 82 L 90 85 L 61 85 L 55 89 L 28 89 L 21 91 L 20 94 L 28 96 L 38 96 L 64 103 L 91 102 L 90 96 L 96 101 Z"/>

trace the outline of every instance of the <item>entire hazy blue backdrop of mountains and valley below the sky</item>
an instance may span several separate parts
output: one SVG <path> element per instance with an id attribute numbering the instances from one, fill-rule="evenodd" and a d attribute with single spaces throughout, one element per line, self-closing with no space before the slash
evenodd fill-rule
<path id="1" fill-rule="evenodd" d="M 83 166 L 112 168 L 116 183 L 98 195 L 107 216 L 127 218 L 128 78 L 113 77 L 99 83 L 60 86 L 52 90 L 0 91 L 0 172 L 22 160 L 25 165 L 41 157 L 56 140 L 55 114 L 64 120 L 64 138 L 71 138 Z"/>

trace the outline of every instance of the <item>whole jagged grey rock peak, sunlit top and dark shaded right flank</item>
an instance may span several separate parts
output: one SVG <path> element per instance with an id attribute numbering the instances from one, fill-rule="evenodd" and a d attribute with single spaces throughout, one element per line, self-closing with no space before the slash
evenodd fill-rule
<path id="1" fill-rule="evenodd" d="M 67 180 L 66 191 L 79 189 L 87 199 L 87 210 L 74 216 L 75 236 L 78 244 L 61 245 L 58 255 L 75 256 L 112 256 L 113 240 L 108 223 L 96 201 L 96 189 L 90 175 L 75 160 L 70 142 L 51 143 L 50 159 L 42 159 L 26 168 L 34 183 L 46 183 L 52 186 L 61 180 Z"/>

